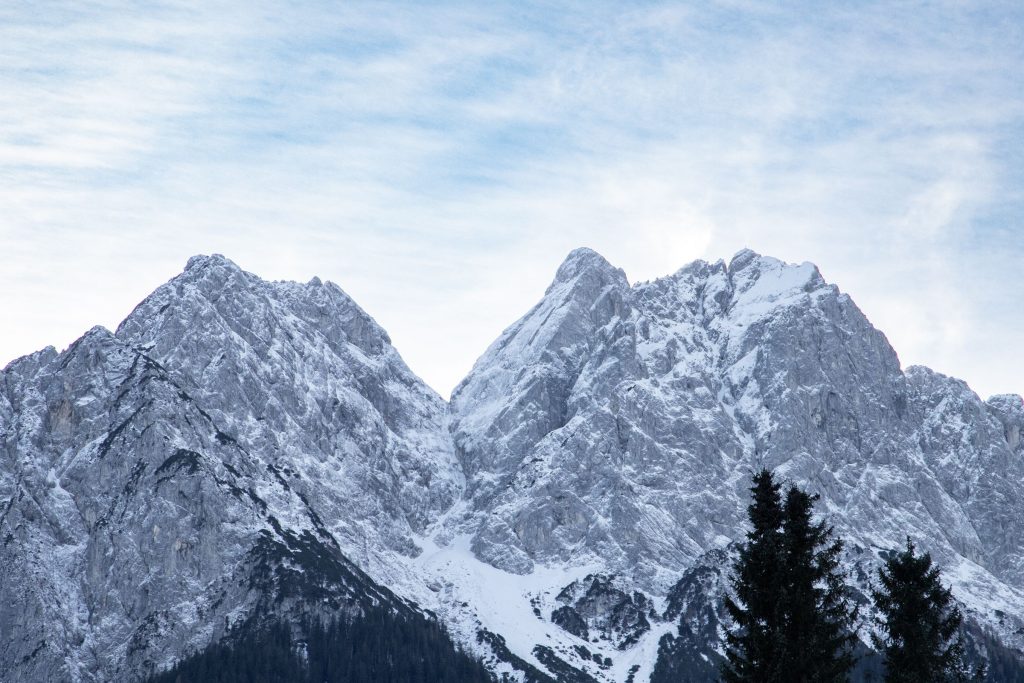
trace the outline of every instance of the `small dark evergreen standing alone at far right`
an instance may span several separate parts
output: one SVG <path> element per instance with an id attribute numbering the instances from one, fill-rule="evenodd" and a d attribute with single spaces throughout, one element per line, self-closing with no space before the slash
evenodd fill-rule
<path id="1" fill-rule="evenodd" d="M 879 581 L 881 590 L 871 593 L 880 612 L 873 638 L 886 658 L 887 683 L 965 680 L 963 616 L 932 556 L 918 555 L 907 538 L 906 549 L 879 569 Z"/>

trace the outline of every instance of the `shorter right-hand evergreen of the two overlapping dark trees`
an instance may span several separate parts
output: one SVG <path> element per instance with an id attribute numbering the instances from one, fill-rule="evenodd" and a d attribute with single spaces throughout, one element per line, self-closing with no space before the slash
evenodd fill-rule
<path id="1" fill-rule="evenodd" d="M 813 521 L 818 496 L 791 486 L 782 522 L 782 671 L 794 683 L 845 681 L 854 665 L 857 609 L 840 570 L 843 542 Z"/>

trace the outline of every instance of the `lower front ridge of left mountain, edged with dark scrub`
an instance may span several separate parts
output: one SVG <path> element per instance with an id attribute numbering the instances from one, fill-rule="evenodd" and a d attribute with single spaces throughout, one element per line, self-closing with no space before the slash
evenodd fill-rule
<path id="1" fill-rule="evenodd" d="M 131 680 L 257 607 L 393 599 L 270 463 L 105 330 L 12 364 L 0 395 L 0 678 Z"/>

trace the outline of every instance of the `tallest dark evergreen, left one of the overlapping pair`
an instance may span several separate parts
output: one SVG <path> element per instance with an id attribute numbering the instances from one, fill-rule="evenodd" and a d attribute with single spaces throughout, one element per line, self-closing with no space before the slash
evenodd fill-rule
<path id="1" fill-rule="evenodd" d="M 751 530 L 739 547 L 733 591 L 725 600 L 735 628 L 726 634 L 727 683 L 783 681 L 782 642 L 782 501 L 771 472 L 754 475 L 748 508 Z"/>

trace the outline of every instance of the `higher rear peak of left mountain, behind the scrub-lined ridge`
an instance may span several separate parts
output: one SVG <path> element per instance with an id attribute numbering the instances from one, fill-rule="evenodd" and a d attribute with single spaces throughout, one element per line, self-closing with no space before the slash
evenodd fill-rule
<path id="1" fill-rule="evenodd" d="M 287 472 L 355 559 L 415 554 L 411 533 L 461 494 L 445 402 L 331 283 L 267 283 L 196 257 L 117 334 Z"/>

